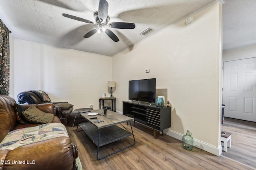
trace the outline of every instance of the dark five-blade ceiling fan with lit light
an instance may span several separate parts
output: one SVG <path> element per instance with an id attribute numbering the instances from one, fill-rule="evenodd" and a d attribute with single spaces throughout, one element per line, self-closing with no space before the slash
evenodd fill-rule
<path id="1" fill-rule="evenodd" d="M 94 25 L 98 25 L 98 28 L 94 28 L 91 31 L 89 31 L 88 33 L 86 33 L 84 35 L 84 38 L 89 38 L 90 36 L 94 35 L 96 32 L 100 32 L 100 33 L 105 32 L 108 35 L 108 37 L 110 37 L 113 41 L 117 42 L 117 41 L 119 41 L 118 37 L 110 29 L 106 29 L 106 26 L 110 27 L 110 28 L 119 28 L 119 29 L 134 29 L 135 28 L 134 23 L 128 23 L 128 22 L 108 23 L 110 18 L 108 16 L 108 2 L 106 0 L 100 0 L 100 2 L 99 2 L 98 12 L 94 13 L 94 18 L 95 18 L 96 22 L 86 20 L 83 18 L 79 18 L 76 16 L 72 16 L 69 14 L 62 14 L 62 16 L 73 19 L 73 20 L 78 20 L 78 21 L 82 21 L 85 23 L 91 23 Z"/>

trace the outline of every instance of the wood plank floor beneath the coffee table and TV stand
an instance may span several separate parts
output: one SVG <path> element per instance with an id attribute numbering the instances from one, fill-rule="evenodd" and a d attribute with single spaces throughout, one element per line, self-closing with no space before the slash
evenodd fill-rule
<path id="1" fill-rule="evenodd" d="M 126 123 L 123 125 L 129 127 Z M 231 148 L 228 148 L 228 152 L 222 152 L 220 156 L 215 156 L 196 147 L 191 151 L 185 150 L 182 147 L 181 141 L 168 135 L 161 136 L 158 133 L 158 139 L 154 139 L 152 129 L 135 123 L 132 129 L 136 144 L 102 160 L 96 159 L 97 147 L 83 131 L 76 132 L 76 127 L 67 127 L 67 130 L 72 143 L 76 143 L 78 146 L 78 156 L 83 170 L 256 169 L 255 124 L 244 126 L 239 123 L 238 127 L 236 127 L 234 121 L 225 119 L 225 123 L 222 126 L 223 130 L 232 133 L 232 145 Z M 244 131 L 247 134 L 253 132 L 250 136 L 244 136 Z M 107 154 L 113 152 L 130 145 L 132 142 L 132 137 L 122 139 L 113 144 L 100 147 L 100 153 Z M 241 159 L 243 161 L 240 161 Z"/>

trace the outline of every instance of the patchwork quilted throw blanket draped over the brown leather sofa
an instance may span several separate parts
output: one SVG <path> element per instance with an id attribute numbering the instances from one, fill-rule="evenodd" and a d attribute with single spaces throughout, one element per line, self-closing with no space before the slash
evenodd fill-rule
<path id="1" fill-rule="evenodd" d="M 69 137 L 62 123 L 46 123 L 35 127 L 26 127 L 10 131 L 0 143 L 0 150 L 13 150 L 22 145 L 44 141 L 56 137 Z"/>

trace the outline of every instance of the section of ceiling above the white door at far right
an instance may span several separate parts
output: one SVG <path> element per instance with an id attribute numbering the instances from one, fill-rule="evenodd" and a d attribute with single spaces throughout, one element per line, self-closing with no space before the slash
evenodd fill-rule
<path id="1" fill-rule="evenodd" d="M 256 1 L 224 0 L 223 50 L 256 44 Z"/>

